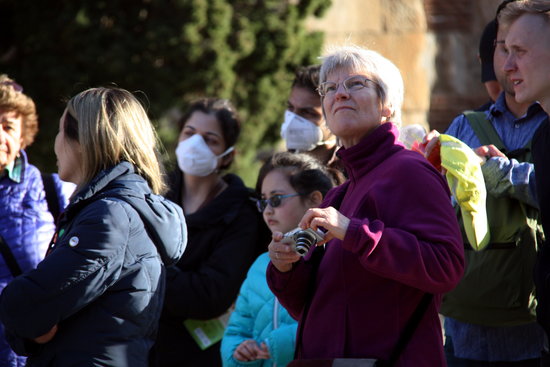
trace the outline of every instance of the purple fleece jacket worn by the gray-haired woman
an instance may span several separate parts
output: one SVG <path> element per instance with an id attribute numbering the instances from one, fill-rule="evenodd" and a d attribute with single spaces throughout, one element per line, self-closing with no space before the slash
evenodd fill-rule
<path id="1" fill-rule="evenodd" d="M 444 178 L 397 135 L 385 123 L 340 149 L 349 180 L 322 206 L 341 201 L 338 210 L 351 221 L 343 241 L 326 245 L 305 319 L 308 257 L 286 273 L 269 264 L 272 291 L 299 320 L 298 358 L 387 359 L 422 296 L 432 293 L 397 366 L 445 366 L 437 311 L 441 294 L 462 276 L 462 239 Z"/>

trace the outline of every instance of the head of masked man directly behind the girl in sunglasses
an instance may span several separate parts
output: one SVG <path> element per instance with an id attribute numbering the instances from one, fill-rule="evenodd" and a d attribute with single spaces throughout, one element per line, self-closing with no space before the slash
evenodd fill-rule
<path id="1" fill-rule="evenodd" d="M 320 65 L 311 65 L 296 71 L 281 136 L 289 151 L 307 153 L 332 167 L 337 162 L 336 137 L 323 117 L 317 93 L 319 69 Z M 338 165 L 334 168 L 340 170 Z"/>

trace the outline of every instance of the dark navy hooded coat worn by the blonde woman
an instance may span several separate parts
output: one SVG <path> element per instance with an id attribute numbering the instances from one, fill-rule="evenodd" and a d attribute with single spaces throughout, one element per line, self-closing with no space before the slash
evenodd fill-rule
<path id="1" fill-rule="evenodd" d="M 186 244 L 181 208 L 151 194 L 123 162 L 70 202 L 37 269 L 0 296 L 0 320 L 28 366 L 146 366 L 165 288 L 164 265 Z M 55 337 L 31 340 L 58 325 Z"/>

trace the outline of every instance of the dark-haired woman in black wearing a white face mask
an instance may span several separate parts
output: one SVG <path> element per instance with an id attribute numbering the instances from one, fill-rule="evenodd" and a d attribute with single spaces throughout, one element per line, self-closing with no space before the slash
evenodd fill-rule
<path id="1" fill-rule="evenodd" d="M 167 197 L 183 207 L 189 240 L 185 256 L 168 269 L 152 366 L 221 366 L 220 343 L 201 350 L 189 320 L 224 314 L 261 251 L 255 246 L 269 242 L 260 239 L 265 225 L 251 191 L 238 176 L 221 173 L 234 159 L 239 133 L 236 112 L 226 100 L 198 100 L 180 120 L 179 169 L 170 177 Z"/>

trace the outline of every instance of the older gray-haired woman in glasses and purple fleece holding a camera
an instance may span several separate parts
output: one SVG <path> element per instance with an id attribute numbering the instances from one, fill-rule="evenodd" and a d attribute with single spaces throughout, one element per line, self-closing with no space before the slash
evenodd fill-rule
<path id="1" fill-rule="evenodd" d="M 463 245 L 445 180 L 397 140 L 400 72 L 348 46 L 323 58 L 320 81 L 349 180 L 300 222 L 325 232 L 324 246 L 302 258 L 281 233 L 269 246 L 268 283 L 299 320 L 293 365 L 443 366 L 437 310 L 460 280 Z"/>

